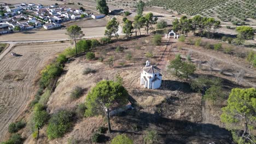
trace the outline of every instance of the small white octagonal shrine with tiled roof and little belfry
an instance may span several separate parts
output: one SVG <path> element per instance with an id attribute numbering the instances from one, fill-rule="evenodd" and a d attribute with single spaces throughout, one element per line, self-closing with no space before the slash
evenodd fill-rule
<path id="1" fill-rule="evenodd" d="M 144 88 L 160 88 L 162 82 L 162 75 L 160 74 L 160 69 L 146 62 L 146 66 L 141 71 L 141 85 Z"/>

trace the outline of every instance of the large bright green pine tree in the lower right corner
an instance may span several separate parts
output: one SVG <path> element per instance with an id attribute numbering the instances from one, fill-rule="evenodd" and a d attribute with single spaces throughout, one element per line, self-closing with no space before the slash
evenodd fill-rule
<path id="1" fill-rule="evenodd" d="M 236 143 L 255 143 L 256 137 L 251 131 L 255 130 L 256 119 L 256 88 L 233 88 L 228 105 L 222 108 L 220 119 L 231 130 Z"/>

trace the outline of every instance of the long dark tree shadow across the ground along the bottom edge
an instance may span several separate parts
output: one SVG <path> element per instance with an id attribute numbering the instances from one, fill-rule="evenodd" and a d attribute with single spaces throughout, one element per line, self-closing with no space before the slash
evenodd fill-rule
<path id="1" fill-rule="evenodd" d="M 152 129 L 154 125 L 154 130 L 158 132 L 164 143 L 189 143 L 191 139 L 201 139 L 200 143 L 206 143 L 206 141 L 232 143 L 230 132 L 218 125 L 170 119 L 161 117 L 158 113 L 137 111 L 136 115 L 127 114 L 124 117 L 115 118 L 114 121 L 126 127 L 113 129 L 113 133 L 132 135 L 143 135 L 143 133 L 132 130 L 131 125 L 139 124 L 142 130 Z"/>

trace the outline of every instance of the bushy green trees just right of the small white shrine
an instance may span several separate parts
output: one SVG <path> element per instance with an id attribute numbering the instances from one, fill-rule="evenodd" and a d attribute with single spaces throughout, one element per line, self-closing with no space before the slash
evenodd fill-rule
<path id="1" fill-rule="evenodd" d="M 170 61 L 170 64 L 167 66 L 168 71 L 179 77 L 185 77 L 188 80 L 188 76 L 194 74 L 196 67 L 191 62 L 183 62 L 181 55 L 176 55 L 173 61 Z"/>

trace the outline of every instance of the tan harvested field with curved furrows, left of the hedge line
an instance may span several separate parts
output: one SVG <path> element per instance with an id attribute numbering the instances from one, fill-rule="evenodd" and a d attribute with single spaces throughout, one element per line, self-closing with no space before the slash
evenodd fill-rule
<path id="1" fill-rule="evenodd" d="M 36 93 L 40 70 L 68 43 L 19 44 L 0 61 L 0 140 L 8 133 L 8 125 L 21 116 Z"/>

